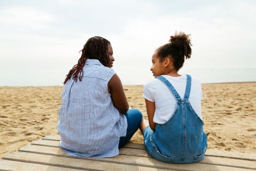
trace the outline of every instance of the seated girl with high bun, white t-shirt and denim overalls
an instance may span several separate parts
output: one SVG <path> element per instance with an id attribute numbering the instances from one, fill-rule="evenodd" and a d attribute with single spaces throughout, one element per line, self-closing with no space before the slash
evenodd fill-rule
<path id="1" fill-rule="evenodd" d="M 156 79 L 144 88 L 149 121 L 142 120 L 140 130 L 150 156 L 167 163 L 194 163 L 204 158 L 207 147 L 201 83 L 178 73 L 191 55 L 189 35 L 175 33 L 169 41 L 152 56 L 150 70 Z"/>

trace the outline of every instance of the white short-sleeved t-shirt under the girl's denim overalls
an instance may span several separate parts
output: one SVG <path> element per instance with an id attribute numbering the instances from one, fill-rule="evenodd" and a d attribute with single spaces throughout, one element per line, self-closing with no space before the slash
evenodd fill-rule
<path id="1" fill-rule="evenodd" d="M 181 75 L 178 77 L 173 77 L 169 75 L 162 75 L 166 78 L 175 90 L 179 93 L 180 98 L 183 99 L 186 90 L 187 76 Z M 159 79 L 154 79 L 144 87 L 143 97 L 149 101 L 155 102 L 155 114 L 153 121 L 154 123 L 164 124 L 173 116 L 176 108 L 177 101 L 173 96 L 171 90 Z M 191 89 L 189 95 L 189 102 L 196 114 L 202 119 L 202 110 L 201 110 L 201 100 L 203 99 L 202 95 L 202 86 L 201 82 L 197 79 L 191 79 Z"/>

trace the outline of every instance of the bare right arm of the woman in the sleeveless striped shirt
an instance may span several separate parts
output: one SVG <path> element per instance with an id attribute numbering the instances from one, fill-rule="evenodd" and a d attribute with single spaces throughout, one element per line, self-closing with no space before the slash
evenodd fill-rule
<path id="1" fill-rule="evenodd" d="M 119 113 L 125 114 L 129 109 L 129 104 L 124 93 L 122 82 L 117 74 L 112 76 L 109 80 L 108 92 L 110 93 L 112 102 L 118 109 Z"/>

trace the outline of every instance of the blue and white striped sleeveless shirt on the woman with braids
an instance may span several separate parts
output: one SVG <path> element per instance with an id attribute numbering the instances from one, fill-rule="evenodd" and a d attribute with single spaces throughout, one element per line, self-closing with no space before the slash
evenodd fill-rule
<path id="1" fill-rule="evenodd" d="M 87 59 L 83 70 L 82 81 L 70 79 L 62 90 L 57 126 L 60 147 L 74 157 L 116 156 L 127 119 L 119 114 L 108 92 L 115 71 L 98 59 Z"/>

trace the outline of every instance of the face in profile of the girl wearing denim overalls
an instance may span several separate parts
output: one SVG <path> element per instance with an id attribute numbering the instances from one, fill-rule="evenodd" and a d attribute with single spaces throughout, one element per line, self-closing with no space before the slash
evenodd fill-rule
<path id="1" fill-rule="evenodd" d="M 160 76 L 164 73 L 163 62 L 160 60 L 161 58 L 157 56 L 157 52 L 152 56 L 152 66 L 150 71 L 152 71 L 153 76 Z"/>

